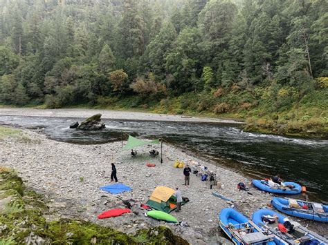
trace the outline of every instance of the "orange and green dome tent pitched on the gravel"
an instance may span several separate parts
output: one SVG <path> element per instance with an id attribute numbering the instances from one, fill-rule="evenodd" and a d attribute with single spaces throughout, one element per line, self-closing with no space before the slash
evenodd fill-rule
<path id="1" fill-rule="evenodd" d="M 170 213 L 176 209 L 176 197 L 174 197 L 175 190 L 166 186 L 157 186 L 150 195 L 147 205 L 156 210 Z M 181 205 L 185 204 L 182 202 Z"/>

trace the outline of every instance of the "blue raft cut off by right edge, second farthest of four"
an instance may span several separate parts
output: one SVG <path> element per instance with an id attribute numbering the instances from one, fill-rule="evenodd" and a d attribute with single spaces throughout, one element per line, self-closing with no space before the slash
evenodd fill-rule
<path id="1" fill-rule="evenodd" d="M 328 205 L 298 199 L 273 197 L 272 205 L 287 215 L 328 222 Z"/>

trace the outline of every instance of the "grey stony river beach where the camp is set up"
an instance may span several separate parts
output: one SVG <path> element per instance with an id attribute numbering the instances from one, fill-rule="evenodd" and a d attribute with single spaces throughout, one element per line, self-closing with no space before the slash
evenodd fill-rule
<path id="1" fill-rule="evenodd" d="M 248 216 L 254 210 L 267 206 L 271 199 L 271 195 L 254 188 L 250 188 L 253 195 L 239 192 L 237 183 L 248 184 L 250 179 L 220 166 L 217 166 L 217 175 L 222 189 L 215 186 L 210 190 L 209 182 L 201 182 L 196 175 L 191 176 L 189 187 L 183 186 L 183 170 L 173 167 L 176 158 L 197 161 L 213 171 L 215 166 L 166 144 L 163 144 L 161 164 L 160 159 L 148 157 L 152 146 L 138 148 L 137 157 L 131 158 L 129 151 L 122 150 L 125 142 L 75 145 L 46 139 L 44 135 L 30 131 L 24 133 L 30 140 L 7 137 L 0 141 L 1 165 L 17 169 L 26 186 L 44 195 L 50 208 L 47 220 L 61 217 L 83 219 L 131 234 L 140 228 L 152 228 L 161 224 L 170 227 L 174 234 L 183 237 L 190 244 L 217 244 L 219 241 L 226 242 L 219 233 L 217 215 L 231 203 L 215 197 L 212 195 L 213 191 L 233 199 L 236 208 Z M 132 191 L 111 195 L 99 189 L 100 186 L 110 184 L 111 162 L 116 164 L 118 181 L 130 186 Z M 156 167 L 145 166 L 147 162 L 156 164 Z M 188 222 L 189 227 L 158 222 L 145 217 L 145 210 L 136 207 L 132 208 L 134 213 L 131 214 L 97 219 L 104 210 L 125 208 L 122 199 L 147 202 L 156 186 L 181 187 L 182 195 L 188 197 L 190 202 L 182 207 L 180 213 L 172 214 L 179 221 Z M 295 220 L 303 225 L 309 224 L 320 235 L 327 235 L 325 225 L 318 226 L 303 219 Z"/>

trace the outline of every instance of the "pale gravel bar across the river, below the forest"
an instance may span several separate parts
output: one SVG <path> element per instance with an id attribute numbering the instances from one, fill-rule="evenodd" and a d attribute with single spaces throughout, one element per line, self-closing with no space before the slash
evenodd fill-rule
<path id="1" fill-rule="evenodd" d="M 166 115 L 150 112 L 130 112 L 120 110 L 98 109 L 35 109 L 35 108 L 0 108 L 0 115 L 33 116 L 33 117 L 65 117 L 87 118 L 95 114 L 102 114 L 102 119 L 129 121 L 179 121 L 191 123 L 236 124 L 244 125 L 243 121 L 233 119 L 215 119 L 210 117 L 194 117 L 185 115 Z"/>

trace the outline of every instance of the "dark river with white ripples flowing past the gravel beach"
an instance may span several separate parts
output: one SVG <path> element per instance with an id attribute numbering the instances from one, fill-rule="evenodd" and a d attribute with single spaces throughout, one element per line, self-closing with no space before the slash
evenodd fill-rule
<path id="1" fill-rule="evenodd" d="M 237 125 L 165 121 L 106 120 L 106 128 L 85 132 L 70 129 L 82 119 L 0 116 L 0 124 L 44 128 L 49 138 L 74 144 L 103 144 L 127 134 L 165 141 L 253 178 L 280 173 L 283 179 L 307 186 L 309 199 L 328 202 L 328 141 L 245 133 Z M 157 146 L 159 147 L 159 146 Z M 158 149 L 159 150 L 159 149 Z M 219 173 L 218 173 L 219 175 Z"/>

